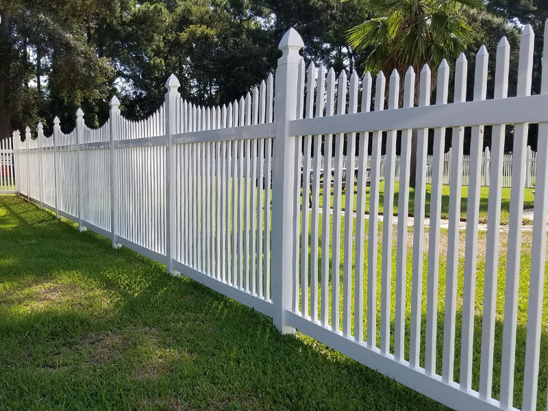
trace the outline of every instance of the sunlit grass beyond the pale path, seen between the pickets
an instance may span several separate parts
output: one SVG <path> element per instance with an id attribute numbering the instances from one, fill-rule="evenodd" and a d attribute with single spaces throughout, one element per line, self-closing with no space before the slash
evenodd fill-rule
<path id="1" fill-rule="evenodd" d="M 354 211 L 356 211 L 356 199 L 358 197 L 356 188 L 354 188 Z M 369 198 L 370 188 L 366 188 L 367 196 Z M 533 188 L 525 188 L 525 195 L 523 197 L 523 208 L 533 208 L 534 207 L 534 194 L 532 193 Z M 399 182 L 394 184 L 394 214 L 398 213 L 398 192 L 399 192 Z M 427 184 L 426 186 L 426 214 L 429 216 L 430 213 L 430 197 L 432 195 L 432 186 Z M 479 222 L 487 222 L 487 206 L 489 198 L 489 187 L 482 187 L 480 190 L 481 199 L 479 200 Z M 320 204 L 323 204 L 323 190 L 321 190 L 320 195 Z M 409 193 L 409 215 L 414 215 L 414 198 L 415 192 L 414 188 L 410 189 Z M 460 201 L 460 219 L 466 221 L 466 205 L 468 200 L 468 187 L 462 186 L 462 199 Z M 331 199 L 331 205 L 333 206 L 333 196 Z M 380 183 L 379 186 L 379 206 L 380 213 L 384 212 L 384 181 Z M 343 209 L 345 207 L 345 194 L 343 193 Z M 366 202 L 366 213 L 369 213 L 369 200 Z M 502 201 L 501 201 L 501 224 L 508 224 L 508 215 L 510 210 L 510 188 L 502 189 Z M 443 219 L 449 218 L 449 186 L 443 186 L 442 188 L 442 202 L 441 202 L 441 216 Z"/>

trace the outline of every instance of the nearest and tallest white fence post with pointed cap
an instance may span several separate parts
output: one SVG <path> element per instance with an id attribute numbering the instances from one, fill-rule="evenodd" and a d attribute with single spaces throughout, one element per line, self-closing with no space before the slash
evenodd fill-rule
<path id="1" fill-rule="evenodd" d="M 299 50 L 303 40 L 289 29 L 279 42 L 275 84 L 276 138 L 273 152 L 272 201 L 272 300 L 274 325 L 280 332 L 295 332 L 286 324 L 286 310 L 291 307 L 293 256 L 293 190 L 295 178 L 295 144 L 289 136 L 289 121 L 297 117 L 297 77 Z"/>

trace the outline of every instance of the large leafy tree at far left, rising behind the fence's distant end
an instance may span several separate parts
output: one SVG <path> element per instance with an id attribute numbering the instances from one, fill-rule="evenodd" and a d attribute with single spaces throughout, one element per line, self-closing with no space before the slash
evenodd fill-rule
<path id="1" fill-rule="evenodd" d="M 77 105 L 95 108 L 108 95 L 114 72 L 90 30 L 118 7 L 118 0 L 0 1 L 0 138 L 51 114 L 73 119 Z"/>

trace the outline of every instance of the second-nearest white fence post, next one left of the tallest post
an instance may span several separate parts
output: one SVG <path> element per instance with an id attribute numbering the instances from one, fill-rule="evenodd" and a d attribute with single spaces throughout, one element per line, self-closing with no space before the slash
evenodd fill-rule
<path id="1" fill-rule="evenodd" d="M 173 258 L 176 255 L 177 214 L 175 210 L 175 147 L 172 136 L 175 134 L 175 104 L 179 97 L 179 80 L 170 75 L 166 82 L 166 271 L 173 272 Z"/>

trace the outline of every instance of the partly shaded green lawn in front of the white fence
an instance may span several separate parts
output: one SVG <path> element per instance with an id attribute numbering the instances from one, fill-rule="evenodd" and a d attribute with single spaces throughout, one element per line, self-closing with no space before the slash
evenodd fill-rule
<path id="1" fill-rule="evenodd" d="M 0 196 L 1 410 L 443 410 L 110 240 Z"/>

